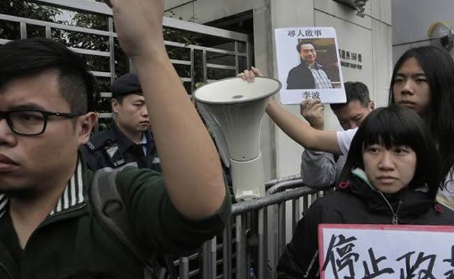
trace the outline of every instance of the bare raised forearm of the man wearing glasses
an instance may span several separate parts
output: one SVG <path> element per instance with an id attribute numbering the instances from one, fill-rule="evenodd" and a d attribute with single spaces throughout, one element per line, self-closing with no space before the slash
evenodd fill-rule
<path id="1" fill-rule="evenodd" d="M 193 220 L 212 216 L 226 188 L 219 156 L 163 41 L 163 0 L 110 0 L 122 50 L 136 68 L 168 195 Z"/>

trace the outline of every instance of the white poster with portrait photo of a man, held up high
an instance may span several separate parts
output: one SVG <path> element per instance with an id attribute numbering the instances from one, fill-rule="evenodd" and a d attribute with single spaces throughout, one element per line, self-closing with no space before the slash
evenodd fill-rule
<path id="1" fill-rule="evenodd" d="M 334 28 L 279 28 L 274 34 L 281 103 L 299 105 L 309 98 L 346 102 Z"/>

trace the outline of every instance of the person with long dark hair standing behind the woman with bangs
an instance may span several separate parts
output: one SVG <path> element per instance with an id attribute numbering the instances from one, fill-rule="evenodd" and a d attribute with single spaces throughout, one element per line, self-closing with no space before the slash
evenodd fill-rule
<path id="1" fill-rule="evenodd" d="M 417 47 L 397 60 L 390 84 L 390 103 L 417 112 L 430 130 L 441 158 L 437 199 L 454 209 L 454 61 L 437 47 Z"/>

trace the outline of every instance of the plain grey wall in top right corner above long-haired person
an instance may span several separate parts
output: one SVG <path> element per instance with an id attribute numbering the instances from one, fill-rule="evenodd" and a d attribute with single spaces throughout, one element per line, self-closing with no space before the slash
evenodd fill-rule
<path id="1" fill-rule="evenodd" d="M 433 22 L 454 24 L 454 1 L 393 0 L 393 61 L 409 48 L 428 45 Z M 453 53 L 451 53 L 452 55 Z"/>

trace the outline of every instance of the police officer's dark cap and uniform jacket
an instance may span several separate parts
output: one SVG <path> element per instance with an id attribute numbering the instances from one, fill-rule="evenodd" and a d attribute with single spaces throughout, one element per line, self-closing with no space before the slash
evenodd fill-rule
<path id="1" fill-rule="evenodd" d="M 112 84 L 112 98 L 141 92 L 138 77 L 134 73 L 123 75 Z M 161 172 L 153 135 L 149 129 L 143 135 L 145 143 L 136 144 L 112 123 L 108 130 L 91 136 L 89 142 L 80 147 L 80 151 L 89 169 L 94 171 L 129 164 Z"/>

